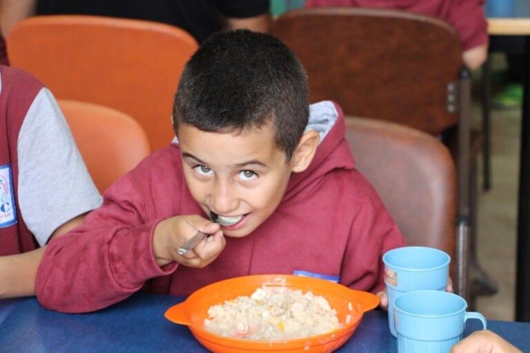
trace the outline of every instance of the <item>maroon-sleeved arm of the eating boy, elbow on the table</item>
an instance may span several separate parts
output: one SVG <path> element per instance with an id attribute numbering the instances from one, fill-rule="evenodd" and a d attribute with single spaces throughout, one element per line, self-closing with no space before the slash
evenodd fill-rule
<path id="1" fill-rule="evenodd" d="M 61 312 L 98 310 L 173 272 L 175 263 L 162 269 L 155 261 L 153 230 L 161 220 L 146 220 L 146 213 L 126 174 L 83 225 L 46 247 L 35 282 L 41 305 Z"/>

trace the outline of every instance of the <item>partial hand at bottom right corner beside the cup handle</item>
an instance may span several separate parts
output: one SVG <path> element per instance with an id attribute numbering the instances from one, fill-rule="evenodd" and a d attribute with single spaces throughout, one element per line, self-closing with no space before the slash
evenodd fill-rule
<path id="1" fill-rule="evenodd" d="M 475 331 L 451 348 L 451 353 L 522 353 L 488 330 Z"/>

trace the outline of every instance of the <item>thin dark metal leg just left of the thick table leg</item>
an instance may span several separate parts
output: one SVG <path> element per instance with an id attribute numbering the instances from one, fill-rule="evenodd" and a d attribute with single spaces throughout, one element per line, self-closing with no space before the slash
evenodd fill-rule
<path id="1" fill-rule="evenodd" d="M 491 72 L 489 59 L 482 65 L 482 190 L 491 189 Z"/>

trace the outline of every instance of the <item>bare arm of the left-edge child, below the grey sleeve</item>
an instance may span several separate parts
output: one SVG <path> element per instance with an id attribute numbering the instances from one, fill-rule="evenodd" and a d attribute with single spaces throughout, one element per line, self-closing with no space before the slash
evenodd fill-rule
<path id="1" fill-rule="evenodd" d="M 81 214 L 60 225 L 51 238 L 76 228 L 83 223 L 85 216 Z M 39 248 L 23 254 L 0 256 L 0 299 L 35 295 L 35 276 L 43 254 L 44 248 Z"/>

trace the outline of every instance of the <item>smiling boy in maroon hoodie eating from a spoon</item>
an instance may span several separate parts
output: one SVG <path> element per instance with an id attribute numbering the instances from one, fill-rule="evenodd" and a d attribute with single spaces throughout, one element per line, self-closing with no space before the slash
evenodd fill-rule
<path id="1" fill-rule="evenodd" d="M 382 290 L 381 256 L 404 244 L 400 231 L 355 170 L 342 111 L 308 108 L 306 75 L 283 43 L 214 34 L 186 65 L 173 119 L 174 143 L 50 242 L 36 280 L 44 307 L 88 312 L 140 289 L 187 295 L 266 273 Z M 211 235 L 180 254 L 197 230 Z"/>

